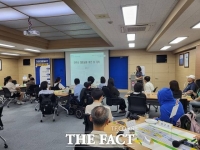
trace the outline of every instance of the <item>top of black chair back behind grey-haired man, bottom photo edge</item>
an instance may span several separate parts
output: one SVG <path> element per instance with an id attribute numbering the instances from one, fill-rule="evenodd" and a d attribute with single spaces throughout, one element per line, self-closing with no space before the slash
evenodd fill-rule
<path id="1" fill-rule="evenodd" d="M 94 146 L 89 146 L 89 145 L 75 145 L 74 150 L 124 150 L 124 148 L 119 148 L 119 147 L 94 147 Z"/>

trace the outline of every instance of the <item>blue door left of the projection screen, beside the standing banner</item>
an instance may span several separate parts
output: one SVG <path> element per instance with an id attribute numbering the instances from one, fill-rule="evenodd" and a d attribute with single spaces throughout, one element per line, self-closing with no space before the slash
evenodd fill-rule
<path id="1" fill-rule="evenodd" d="M 59 59 L 53 59 L 53 82 L 57 77 L 61 78 L 61 83 L 63 86 L 66 86 L 66 68 L 65 68 L 65 59 L 59 58 Z"/>

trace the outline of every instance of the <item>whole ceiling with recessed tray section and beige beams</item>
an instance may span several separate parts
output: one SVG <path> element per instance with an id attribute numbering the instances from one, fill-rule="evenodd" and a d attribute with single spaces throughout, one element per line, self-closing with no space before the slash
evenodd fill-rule
<path id="1" fill-rule="evenodd" d="M 200 29 L 191 29 L 200 22 L 200 0 L 0 0 L 0 25 L 7 28 L 0 26 L 0 43 L 15 45 L 9 49 L 17 53 L 24 48 L 42 53 L 130 49 L 126 33 L 120 29 L 124 26 L 121 8 L 127 5 L 138 6 L 137 24 L 153 25 L 149 31 L 135 32 L 135 47 L 131 49 L 160 51 L 176 37 L 188 37 L 171 45 L 167 51 L 172 51 L 200 39 Z M 97 18 L 100 14 L 106 18 Z M 20 35 L 29 26 L 29 16 L 40 38 Z M 20 38 L 12 39 L 12 33 Z"/>

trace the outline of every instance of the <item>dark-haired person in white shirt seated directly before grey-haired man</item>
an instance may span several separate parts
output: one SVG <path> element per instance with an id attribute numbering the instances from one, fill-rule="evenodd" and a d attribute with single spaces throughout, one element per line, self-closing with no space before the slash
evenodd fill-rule
<path id="1" fill-rule="evenodd" d="M 103 91 L 101 89 L 94 89 L 91 93 L 91 96 L 93 98 L 93 103 L 91 105 L 87 105 L 85 108 L 85 114 L 91 114 L 91 111 L 94 107 L 96 106 L 101 106 L 101 102 L 103 101 Z M 112 117 L 112 113 L 110 110 L 110 107 L 108 106 L 104 106 L 105 108 L 108 109 L 109 111 L 109 120 L 112 122 L 113 121 L 113 117 Z"/>

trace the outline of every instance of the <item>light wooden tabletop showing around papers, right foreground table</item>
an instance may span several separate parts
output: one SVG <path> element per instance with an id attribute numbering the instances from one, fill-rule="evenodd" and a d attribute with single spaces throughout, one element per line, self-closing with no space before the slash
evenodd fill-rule
<path id="1" fill-rule="evenodd" d="M 117 123 L 118 120 L 116 121 L 113 121 L 113 122 L 110 122 L 107 126 L 105 126 L 104 128 L 104 131 L 108 134 L 108 135 L 113 135 L 113 136 L 116 136 L 117 132 L 119 130 L 123 130 L 125 128 L 125 126 Z M 128 119 L 122 119 L 121 121 L 123 122 L 127 122 Z M 144 123 L 145 122 L 145 117 L 140 117 L 138 120 L 136 120 L 136 125 L 138 124 L 141 124 L 141 123 Z M 187 131 L 187 130 L 184 130 L 184 129 L 181 129 L 181 128 L 178 128 L 178 127 L 173 127 L 173 129 L 178 129 L 180 131 L 184 131 L 184 132 L 188 132 L 190 134 L 193 134 L 194 136 L 198 135 L 200 136 L 199 134 L 197 133 L 194 133 L 194 132 L 191 132 L 191 131 Z M 125 141 L 125 142 L 128 142 L 128 139 L 126 137 L 121 137 L 121 140 L 122 141 Z M 131 149 L 138 149 L 138 150 L 149 150 L 149 148 L 145 147 L 145 146 L 142 146 L 138 143 L 135 143 L 133 142 L 132 144 L 128 145 L 128 144 L 125 144 L 126 146 L 128 146 L 129 148 Z"/>

